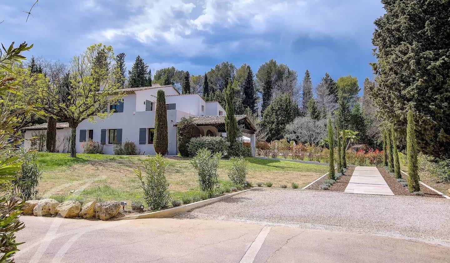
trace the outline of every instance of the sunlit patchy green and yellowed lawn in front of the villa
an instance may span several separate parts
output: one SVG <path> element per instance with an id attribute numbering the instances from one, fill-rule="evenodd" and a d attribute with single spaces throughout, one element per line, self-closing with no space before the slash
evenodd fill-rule
<path id="1" fill-rule="evenodd" d="M 39 185 L 40 196 L 70 194 L 71 198 L 84 201 L 116 200 L 142 201 L 139 182 L 133 169 L 147 156 L 113 156 L 98 154 L 77 154 L 70 158 L 63 153 L 39 153 L 38 160 L 43 171 L 43 179 Z M 181 199 L 182 196 L 199 195 L 196 171 L 187 158 L 167 159 L 169 167 L 166 171 L 170 183 L 171 196 Z M 325 174 L 328 166 L 302 164 L 285 160 L 262 160 L 247 158 L 249 174 L 247 180 L 256 185 L 257 182 L 273 183 L 273 187 L 298 183 L 304 187 L 308 183 Z M 227 173 L 231 161 L 221 160 L 219 166 L 220 187 L 233 186 Z M 72 192 L 72 193 L 71 193 Z"/>

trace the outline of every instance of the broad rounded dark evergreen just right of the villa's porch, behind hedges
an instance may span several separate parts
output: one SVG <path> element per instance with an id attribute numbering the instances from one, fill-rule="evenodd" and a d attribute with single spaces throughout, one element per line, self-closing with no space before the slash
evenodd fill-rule
<path id="1" fill-rule="evenodd" d="M 267 141 L 284 137 L 286 125 L 300 116 L 300 109 L 288 94 L 276 97 L 262 115 L 262 126 L 267 132 Z"/>

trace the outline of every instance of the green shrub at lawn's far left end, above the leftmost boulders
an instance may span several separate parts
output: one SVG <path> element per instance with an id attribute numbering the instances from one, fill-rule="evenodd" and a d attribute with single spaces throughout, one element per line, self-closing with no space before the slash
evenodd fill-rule
<path id="1" fill-rule="evenodd" d="M 37 164 L 35 154 L 26 154 L 20 169 L 20 176 L 13 181 L 13 195 L 24 201 L 35 199 L 38 193 L 37 186 L 42 179 L 40 166 Z"/>

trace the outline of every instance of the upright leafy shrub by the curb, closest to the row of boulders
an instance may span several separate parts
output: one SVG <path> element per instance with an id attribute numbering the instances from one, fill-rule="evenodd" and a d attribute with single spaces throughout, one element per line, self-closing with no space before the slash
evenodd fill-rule
<path id="1" fill-rule="evenodd" d="M 166 160 L 157 154 L 142 162 L 144 173 L 140 167 L 135 169 L 136 177 L 141 182 L 141 188 L 144 190 L 144 199 L 151 210 L 160 210 L 167 206 L 170 200 L 169 183 L 166 179 Z"/>

